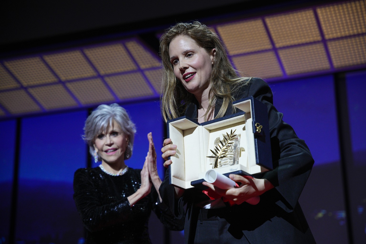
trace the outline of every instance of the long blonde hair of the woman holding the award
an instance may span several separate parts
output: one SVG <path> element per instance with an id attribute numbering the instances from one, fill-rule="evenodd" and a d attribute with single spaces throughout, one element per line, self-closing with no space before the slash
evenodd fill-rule
<path id="1" fill-rule="evenodd" d="M 175 77 L 173 66 L 170 63 L 169 45 L 179 35 L 192 38 L 198 46 L 204 48 L 208 53 L 213 48 L 216 49 L 210 76 L 209 106 L 204 119 L 207 120 L 207 116 L 214 108 L 217 98 L 223 98 L 223 105 L 215 118 L 223 117 L 228 106 L 232 106 L 234 101 L 232 93 L 249 82 L 250 77 L 239 77 L 226 56 L 225 48 L 217 34 L 209 30 L 206 25 L 194 21 L 192 23 L 177 23 L 167 29 L 160 37 L 160 55 L 164 70 L 161 83 L 160 108 L 165 122 L 182 116 L 187 104 L 196 101 L 194 95 L 189 93 Z"/>

